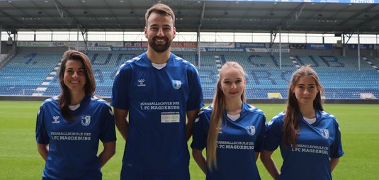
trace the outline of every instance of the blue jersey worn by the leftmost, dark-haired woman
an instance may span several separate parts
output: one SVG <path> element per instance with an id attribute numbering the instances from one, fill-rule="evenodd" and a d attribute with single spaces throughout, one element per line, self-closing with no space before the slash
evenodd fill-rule
<path id="1" fill-rule="evenodd" d="M 49 145 L 43 178 L 101 179 L 98 140 L 116 140 L 111 107 L 97 97 L 85 96 L 72 115 L 72 121 L 63 118 L 57 96 L 40 106 L 35 137 L 38 143 Z"/>

